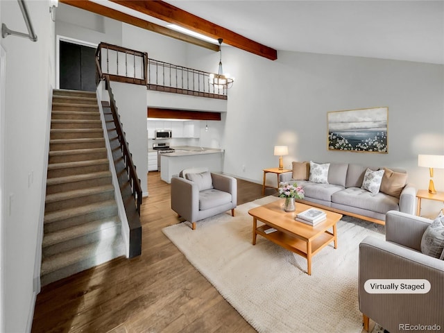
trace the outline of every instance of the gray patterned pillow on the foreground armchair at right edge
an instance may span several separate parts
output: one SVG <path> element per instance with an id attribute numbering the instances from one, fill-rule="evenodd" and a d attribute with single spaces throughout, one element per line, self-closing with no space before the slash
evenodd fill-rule
<path id="1" fill-rule="evenodd" d="M 438 216 L 427 227 L 421 239 L 421 252 L 430 257 L 444 259 L 444 216 Z"/>

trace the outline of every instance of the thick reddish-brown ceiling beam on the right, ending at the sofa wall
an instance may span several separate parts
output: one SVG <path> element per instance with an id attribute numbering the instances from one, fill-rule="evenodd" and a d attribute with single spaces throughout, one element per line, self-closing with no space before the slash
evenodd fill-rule
<path id="1" fill-rule="evenodd" d="M 248 51 L 262 56 L 270 60 L 278 59 L 278 52 L 271 47 L 259 44 L 254 40 L 234 33 L 227 28 L 218 26 L 212 22 L 202 19 L 196 15 L 186 12 L 176 6 L 172 6 L 164 1 L 150 1 L 150 0 L 110 0 L 119 5 L 126 6 L 138 12 L 143 12 L 146 15 L 161 19 L 162 21 L 178 24 L 183 28 L 187 28 L 196 33 L 201 33 L 214 39 L 223 38 L 225 44 L 230 44 L 238 49 Z"/>

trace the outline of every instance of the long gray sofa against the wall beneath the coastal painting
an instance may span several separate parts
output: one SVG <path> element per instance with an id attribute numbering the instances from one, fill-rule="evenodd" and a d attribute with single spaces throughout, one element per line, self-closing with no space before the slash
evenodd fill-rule
<path id="1" fill-rule="evenodd" d="M 404 177 L 405 184 L 395 184 L 397 191 L 391 189 L 394 185 L 389 183 L 406 171 L 388 169 L 386 176 L 394 176 L 382 180 L 386 193 L 381 185 L 381 191 L 372 194 L 361 188 L 367 168 L 378 169 L 352 163 L 330 163 L 328 183 L 318 183 L 309 181 L 309 162 L 293 162 L 293 170 L 282 173 L 280 182 L 295 181 L 302 186 L 305 198 L 298 200 L 302 203 L 379 224 L 385 223 L 386 212 L 389 210 L 415 214 L 416 189 L 407 183 L 407 175 Z"/>

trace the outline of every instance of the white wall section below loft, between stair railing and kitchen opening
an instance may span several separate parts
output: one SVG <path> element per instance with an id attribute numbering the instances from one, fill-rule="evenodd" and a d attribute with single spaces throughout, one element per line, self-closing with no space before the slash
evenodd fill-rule
<path id="1" fill-rule="evenodd" d="M 119 109 L 123 131 L 126 133 L 133 162 L 137 167 L 137 176 L 141 181 L 144 196 L 148 195 L 146 173 L 148 162 L 148 130 L 146 130 L 146 87 L 128 83 L 111 83 L 112 93 Z"/>

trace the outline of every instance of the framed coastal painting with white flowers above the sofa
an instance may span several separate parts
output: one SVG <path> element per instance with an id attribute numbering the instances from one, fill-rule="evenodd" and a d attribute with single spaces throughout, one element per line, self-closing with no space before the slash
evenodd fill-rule
<path id="1" fill-rule="evenodd" d="M 327 149 L 388 153 L 388 108 L 327 112 Z"/>

